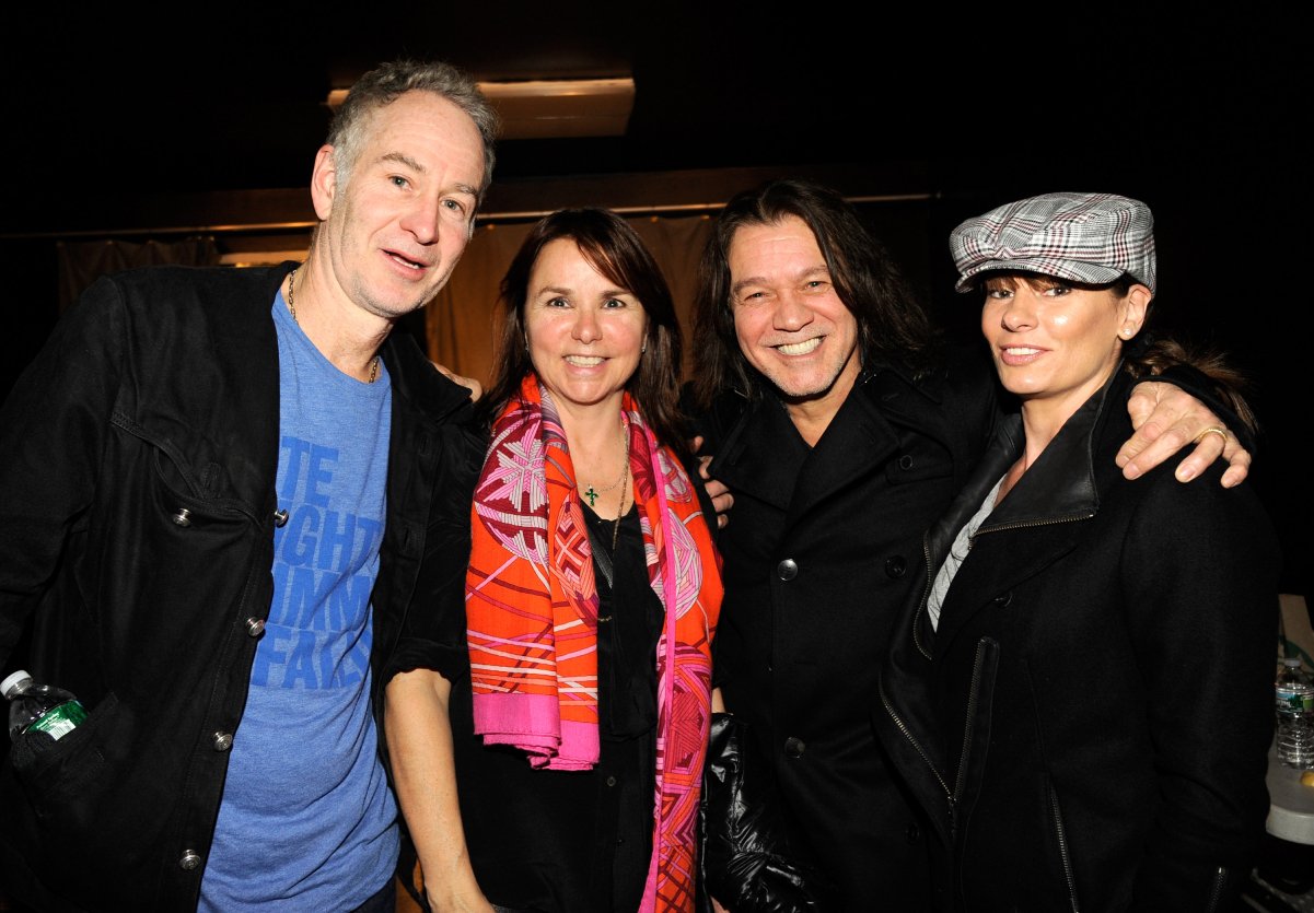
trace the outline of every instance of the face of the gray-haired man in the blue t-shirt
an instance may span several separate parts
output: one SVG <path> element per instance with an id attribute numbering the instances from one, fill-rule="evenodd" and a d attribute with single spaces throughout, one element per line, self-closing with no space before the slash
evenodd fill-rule
<path id="1" fill-rule="evenodd" d="M 344 184 L 331 146 L 311 180 L 315 246 L 336 290 L 388 321 L 428 302 L 470 238 L 484 142 L 455 104 L 411 91 L 373 113 Z"/>

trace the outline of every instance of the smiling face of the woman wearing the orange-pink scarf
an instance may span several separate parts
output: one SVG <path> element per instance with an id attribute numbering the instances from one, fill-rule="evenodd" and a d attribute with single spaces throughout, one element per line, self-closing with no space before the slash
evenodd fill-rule
<path id="1" fill-rule="evenodd" d="M 557 407 L 620 409 L 648 331 L 643 303 L 618 288 L 569 238 L 549 242 L 530 271 L 524 302 L 530 359 Z"/>

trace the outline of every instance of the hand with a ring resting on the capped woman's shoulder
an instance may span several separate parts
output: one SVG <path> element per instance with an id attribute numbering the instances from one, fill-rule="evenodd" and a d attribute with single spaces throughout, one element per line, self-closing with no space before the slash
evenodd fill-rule
<path id="1" fill-rule="evenodd" d="M 1179 482 L 1189 482 L 1222 455 L 1227 461 L 1225 489 L 1240 485 L 1250 474 L 1250 451 L 1202 402 L 1162 381 L 1137 384 L 1127 399 L 1135 434 L 1122 445 L 1116 462 L 1127 478 L 1138 478 L 1184 447 L 1194 444 L 1177 465 Z"/>

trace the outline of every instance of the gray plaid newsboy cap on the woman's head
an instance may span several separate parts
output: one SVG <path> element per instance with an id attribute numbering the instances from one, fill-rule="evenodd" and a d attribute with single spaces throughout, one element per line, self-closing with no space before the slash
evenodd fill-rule
<path id="1" fill-rule="evenodd" d="M 1104 285 L 1123 273 L 1154 292 L 1154 215 L 1112 193 L 1045 193 L 970 218 L 949 235 L 958 292 L 987 269 Z"/>

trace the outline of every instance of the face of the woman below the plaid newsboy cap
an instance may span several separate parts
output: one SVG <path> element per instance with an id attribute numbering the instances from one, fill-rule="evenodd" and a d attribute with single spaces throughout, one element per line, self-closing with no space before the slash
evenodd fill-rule
<path id="1" fill-rule="evenodd" d="M 1043 276 L 986 280 L 982 332 L 1004 388 L 1071 415 L 1117 369 L 1144 321 L 1150 289 L 1077 286 Z M 1034 407 L 1034 406 L 1033 406 Z"/>

